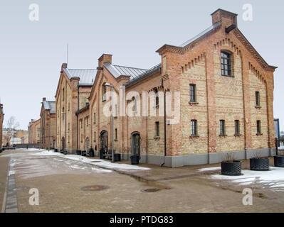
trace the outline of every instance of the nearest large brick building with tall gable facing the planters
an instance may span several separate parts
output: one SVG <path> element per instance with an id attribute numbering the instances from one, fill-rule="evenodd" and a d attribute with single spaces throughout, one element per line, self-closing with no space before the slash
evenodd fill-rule
<path id="1" fill-rule="evenodd" d="M 80 126 L 77 148 L 110 149 L 113 133 L 115 152 L 122 158 L 139 154 L 142 162 L 169 167 L 221 162 L 226 153 L 238 160 L 273 155 L 276 67 L 241 33 L 235 13 L 218 9 L 211 16 L 212 26 L 196 37 L 159 48 L 161 63 L 150 70 L 112 65 L 112 55 L 102 55 L 89 97 L 86 92 L 70 115 L 74 128 Z M 65 75 L 66 67 L 61 78 L 78 84 L 75 74 Z M 115 96 L 113 132 L 110 86 Z M 69 99 L 77 100 L 76 92 Z M 173 117 L 164 117 L 164 100 Z M 74 142 L 75 133 L 70 135 Z"/>

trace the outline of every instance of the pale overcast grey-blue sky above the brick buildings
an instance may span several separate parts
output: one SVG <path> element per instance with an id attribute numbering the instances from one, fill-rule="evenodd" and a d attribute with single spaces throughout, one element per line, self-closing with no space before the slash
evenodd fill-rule
<path id="1" fill-rule="evenodd" d="M 39 21 L 30 21 L 38 4 Z M 243 21 L 243 4 L 253 21 Z M 284 130 L 283 1 L 54 1 L 0 0 L 0 98 L 4 125 L 15 116 L 21 129 L 38 119 L 43 97 L 54 100 L 61 64 L 95 68 L 102 53 L 116 65 L 149 68 L 165 43 L 180 45 L 211 26 L 216 9 L 238 13 L 238 28 L 275 71 L 274 117 Z"/>

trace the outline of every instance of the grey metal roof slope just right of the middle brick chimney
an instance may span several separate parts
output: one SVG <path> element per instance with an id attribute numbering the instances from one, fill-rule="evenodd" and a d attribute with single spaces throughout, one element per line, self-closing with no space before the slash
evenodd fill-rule
<path id="1" fill-rule="evenodd" d="M 130 80 L 132 80 L 140 76 L 140 74 L 147 72 L 147 70 L 145 69 L 126 67 L 121 65 L 112 65 L 110 64 L 110 62 L 105 62 L 104 65 L 115 78 L 120 76 L 129 76 Z"/>

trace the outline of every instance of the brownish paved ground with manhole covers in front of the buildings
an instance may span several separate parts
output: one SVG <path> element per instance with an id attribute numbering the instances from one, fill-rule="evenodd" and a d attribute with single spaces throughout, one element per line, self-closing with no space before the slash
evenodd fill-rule
<path id="1" fill-rule="evenodd" d="M 149 170 L 109 170 L 96 166 L 100 164 L 96 158 L 92 163 L 67 158 L 73 156 L 5 150 L 0 154 L 0 202 L 7 189 L 7 195 L 15 192 L 19 212 L 284 212 L 284 187 L 272 188 L 261 180 L 243 185 L 215 179 L 219 165 L 176 169 L 139 165 Z M 9 163 L 14 163 L 13 170 Z M 248 167 L 247 161 L 243 167 Z M 200 171 L 202 168 L 209 169 Z M 7 187 L 9 174 L 16 182 Z M 86 191 L 83 187 L 87 186 L 105 188 Z M 253 206 L 242 204 L 246 187 L 253 189 Z M 29 204 L 29 190 L 34 188 L 39 192 L 38 206 Z"/>

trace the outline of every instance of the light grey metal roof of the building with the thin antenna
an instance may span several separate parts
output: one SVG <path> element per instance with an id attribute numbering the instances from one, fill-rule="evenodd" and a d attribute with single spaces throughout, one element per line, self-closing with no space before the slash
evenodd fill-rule
<path id="1" fill-rule="evenodd" d="M 95 75 L 97 74 L 97 70 L 95 69 L 68 69 L 63 68 L 65 74 L 67 74 L 68 78 L 79 77 L 79 85 L 83 86 L 93 86 L 95 82 Z"/>

